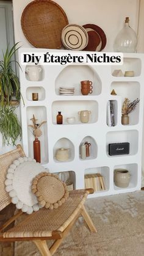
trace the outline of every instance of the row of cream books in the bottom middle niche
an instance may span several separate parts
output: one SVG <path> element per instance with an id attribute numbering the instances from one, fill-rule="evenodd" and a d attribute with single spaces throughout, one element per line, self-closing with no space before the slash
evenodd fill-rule
<path id="1" fill-rule="evenodd" d="M 104 177 L 101 174 L 85 174 L 85 188 L 93 188 L 94 191 L 106 190 Z"/>

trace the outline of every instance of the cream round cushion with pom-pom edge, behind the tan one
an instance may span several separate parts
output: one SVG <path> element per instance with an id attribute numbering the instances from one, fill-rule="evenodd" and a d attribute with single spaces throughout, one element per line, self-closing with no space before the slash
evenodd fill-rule
<path id="1" fill-rule="evenodd" d="M 44 171 L 45 168 L 36 163 L 35 159 L 27 157 L 16 159 L 7 170 L 5 190 L 9 192 L 16 208 L 24 213 L 31 214 L 41 208 L 37 197 L 31 191 L 31 184 L 35 175 Z"/>

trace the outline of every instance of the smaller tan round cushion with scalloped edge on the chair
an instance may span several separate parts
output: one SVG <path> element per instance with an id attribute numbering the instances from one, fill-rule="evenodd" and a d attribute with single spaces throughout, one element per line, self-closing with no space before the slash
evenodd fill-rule
<path id="1" fill-rule="evenodd" d="M 32 181 L 32 192 L 42 207 L 53 210 L 65 203 L 69 193 L 67 186 L 57 175 L 42 172 Z"/>

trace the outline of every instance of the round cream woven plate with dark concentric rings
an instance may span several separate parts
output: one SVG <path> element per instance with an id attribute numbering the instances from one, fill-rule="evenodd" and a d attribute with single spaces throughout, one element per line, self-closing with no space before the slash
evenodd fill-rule
<path id="1" fill-rule="evenodd" d="M 63 28 L 62 43 L 67 49 L 80 51 L 88 44 L 88 34 L 84 27 L 70 24 Z"/>

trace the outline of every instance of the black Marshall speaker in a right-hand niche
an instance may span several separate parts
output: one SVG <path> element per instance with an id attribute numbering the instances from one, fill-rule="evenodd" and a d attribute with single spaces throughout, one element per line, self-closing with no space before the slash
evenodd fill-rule
<path id="1" fill-rule="evenodd" d="M 129 142 L 123 143 L 111 143 L 109 144 L 109 155 L 128 155 L 129 154 Z"/>

